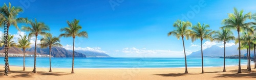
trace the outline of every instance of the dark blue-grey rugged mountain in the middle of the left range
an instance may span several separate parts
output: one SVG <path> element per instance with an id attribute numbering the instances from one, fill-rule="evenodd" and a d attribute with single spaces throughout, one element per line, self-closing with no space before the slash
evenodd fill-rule
<path id="1" fill-rule="evenodd" d="M 34 51 L 34 47 L 31 47 L 27 49 L 28 51 Z M 46 54 L 49 55 L 49 47 L 47 48 L 36 48 L 36 52 L 40 54 Z M 53 57 L 60 57 L 60 58 L 66 58 L 66 57 L 73 57 L 72 52 L 69 50 L 62 48 L 62 47 L 52 47 L 51 49 L 51 56 Z M 75 57 L 80 57 L 80 58 L 86 58 L 86 55 L 81 54 L 80 52 L 75 51 Z"/>

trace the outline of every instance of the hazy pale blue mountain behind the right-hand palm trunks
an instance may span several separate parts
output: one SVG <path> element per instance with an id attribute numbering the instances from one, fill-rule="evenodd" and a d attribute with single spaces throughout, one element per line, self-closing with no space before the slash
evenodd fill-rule
<path id="1" fill-rule="evenodd" d="M 253 52 L 253 50 L 251 50 Z M 241 55 L 246 54 L 246 49 L 241 50 Z M 226 47 L 226 56 L 238 55 L 238 45 Z M 201 57 L 201 50 L 192 52 L 187 57 Z M 203 50 L 203 57 L 224 57 L 224 47 L 213 45 Z"/>

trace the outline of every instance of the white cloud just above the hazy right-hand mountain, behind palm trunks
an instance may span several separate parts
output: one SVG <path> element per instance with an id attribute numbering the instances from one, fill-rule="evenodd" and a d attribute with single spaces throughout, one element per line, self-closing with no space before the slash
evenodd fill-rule
<path id="1" fill-rule="evenodd" d="M 203 43 L 203 49 L 209 48 L 212 45 L 217 45 L 219 47 L 224 47 L 223 42 L 222 43 L 216 43 L 216 42 L 206 41 L 206 42 Z M 234 44 L 233 42 L 226 43 L 226 47 L 229 47 L 229 46 L 232 46 L 232 45 L 236 45 L 236 44 Z M 198 45 L 198 44 L 191 43 L 190 47 L 201 47 L 201 44 Z"/>

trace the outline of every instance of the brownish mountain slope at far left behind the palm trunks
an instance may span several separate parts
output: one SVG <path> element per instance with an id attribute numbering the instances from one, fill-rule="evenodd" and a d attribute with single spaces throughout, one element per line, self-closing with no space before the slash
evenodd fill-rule
<path id="1" fill-rule="evenodd" d="M 0 47 L 0 53 L 3 53 L 5 51 L 4 49 L 5 47 L 2 46 Z M 11 47 L 8 49 L 8 54 L 23 54 L 23 50 L 20 48 L 16 48 L 16 47 Z M 25 51 L 26 55 L 34 55 L 34 51 Z M 44 54 L 39 54 L 38 52 L 36 53 L 37 55 L 44 55 Z"/>

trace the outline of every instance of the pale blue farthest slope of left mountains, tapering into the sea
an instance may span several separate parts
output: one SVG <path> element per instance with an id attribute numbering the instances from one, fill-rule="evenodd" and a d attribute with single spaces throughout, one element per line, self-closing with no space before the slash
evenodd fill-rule
<path id="1" fill-rule="evenodd" d="M 73 51 L 73 50 L 69 50 L 69 51 Z M 84 50 L 75 50 L 77 52 L 82 53 L 83 55 L 86 55 L 86 57 L 96 57 L 96 58 L 108 58 L 110 57 L 109 55 L 103 53 L 103 52 L 96 52 L 96 51 L 84 51 Z"/>

